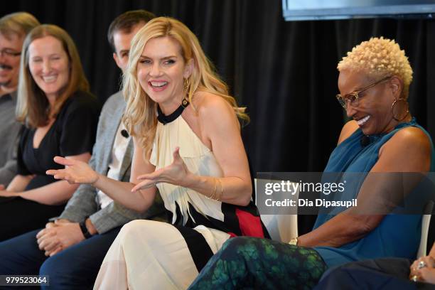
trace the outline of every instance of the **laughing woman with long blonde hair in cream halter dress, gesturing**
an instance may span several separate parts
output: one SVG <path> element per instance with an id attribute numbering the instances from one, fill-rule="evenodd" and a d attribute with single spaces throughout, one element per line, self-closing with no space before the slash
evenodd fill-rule
<path id="1" fill-rule="evenodd" d="M 48 173 L 92 183 L 137 211 L 160 193 L 168 210 L 168 223 L 136 220 L 122 228 L 95 288 L 186 289 L 225 240 L 265 236 L 237 120 L 247 116 L 195 35 L 173 18 L 155 18 L 133 38 L 124 95 L 134 137 L 131 182 L 62 158 L 56 161 L 68 168 Z"/>

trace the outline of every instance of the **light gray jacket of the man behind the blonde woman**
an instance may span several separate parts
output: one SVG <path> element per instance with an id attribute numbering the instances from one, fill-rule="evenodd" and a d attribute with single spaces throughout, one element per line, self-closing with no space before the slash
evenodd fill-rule
<path id="1" fill-rule="evenodd" d="M 90 166 L 100 174 L 107 174 L 115 134 L 121 122 L 125 105 L 122 92 L 117 92 L 109 97 L 102 108 L 97 127 L 97 141 L 89 161 Z M 119 171 L 120 181 L 129 181 L 130 179 L 132 155 L 133 140 L 130 140 Z M 163 220 L 163 214 L 163 201 L 159 194 L 156 194 L 154 205 L 149 210 L 145 213 L 136 213 L 134 210 L 129 210 L 117 202 L 112 202 L 107 207 L 100 208 L 97 190 L 89 184 L 82 184 L 77 188 L 73 197 L 68 201 L 65 210 L 58 218 L 82 222 L 89 217 L 97 232 L 102 234 L 131 220 Z"/>

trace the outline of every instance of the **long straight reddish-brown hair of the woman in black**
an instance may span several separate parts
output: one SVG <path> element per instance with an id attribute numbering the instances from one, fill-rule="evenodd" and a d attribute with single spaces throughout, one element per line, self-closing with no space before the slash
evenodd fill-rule
<path id="1" fill-rule="evenodd" d="M 30 56 L 28 48 L 33 41 L 45 36 L 53 36 L 60 41 L 65 53 L 68 55 L 68 63 L 70 65 L 68 84 L 56 98 L 51 111 L 49 110 L 50 103 L 45 93 L 36 85 L 29 68 Z M 73 95 L 74 92 L 77 90 L 89 92 L 89 83 L 85 77 L 75 43 L 62 28 L 51 24 L 36 26 L 26 36 L 22 53 L 16 104 L 16 119 L 18 119 L 18 122 L 22 122 L 32 128 L 43 127 L 48 123 L 50 117 L 55 117 L 58 114 L 65 100 Z"/>

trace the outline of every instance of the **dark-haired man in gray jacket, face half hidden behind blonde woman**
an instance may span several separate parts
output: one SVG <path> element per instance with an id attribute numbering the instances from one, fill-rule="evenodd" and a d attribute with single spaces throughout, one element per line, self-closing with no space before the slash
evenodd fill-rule
<path id="1" fill-rule="evenodd" d="M 131 38 L 151 18 L 154 14 L 148 11 L 128 11 L 110 25 L 109 43 L 114 48 L 114 60 L 123 71 Z M 129 181 L 133 151 L 132 140 L 122 123 L 125 105 L 122 92 L 104 104 L 90 159 L 95 171 L 120 181 Z M 43 230 L 0 242 L 0 274 L 39 272 L 49 276 L 53 289 L 90 288 L 122 225 L 141 218 L 163 220 L 163 213 L 163 202 L 157 195 L 146 213 L 136 213 L 94 187 L 81 185 L 55 222 L 49 222 Z"/>

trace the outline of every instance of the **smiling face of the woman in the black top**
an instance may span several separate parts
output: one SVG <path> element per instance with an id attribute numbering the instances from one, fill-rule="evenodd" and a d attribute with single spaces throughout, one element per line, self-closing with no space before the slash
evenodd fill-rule
<path id="1" fill-rule="evenodd" d="M 68 55 L 53 36 L 37 38 L 28 47 L 28 66 L 36 85 L 55 100 L 70 78 Z"/>

